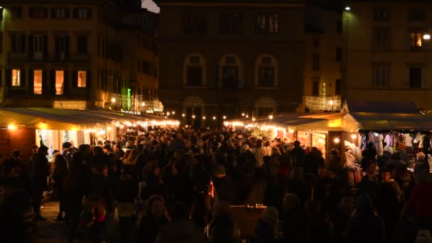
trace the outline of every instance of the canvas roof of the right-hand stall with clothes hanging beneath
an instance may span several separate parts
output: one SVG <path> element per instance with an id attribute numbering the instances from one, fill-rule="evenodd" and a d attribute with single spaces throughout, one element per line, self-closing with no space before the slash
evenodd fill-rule
<path id="1" fill-rule="evenodd" d="M 345 116 L 342 130 L 432 130 L 432 115 L 352 112 Z"/>

